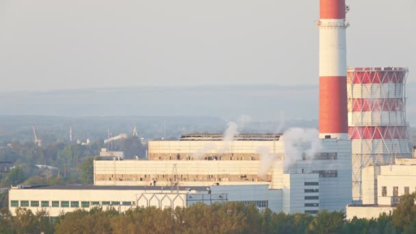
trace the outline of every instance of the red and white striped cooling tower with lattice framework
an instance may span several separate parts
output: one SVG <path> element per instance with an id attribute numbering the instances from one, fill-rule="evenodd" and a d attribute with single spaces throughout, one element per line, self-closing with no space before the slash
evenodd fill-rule
<path id="1" fill-rule="evenodd" d="M 363 199 L 362 170 L 412 157 L 406 122 L 407 68 L 348 68 L 348 132 L 352 142 L 352 197 Z"/>

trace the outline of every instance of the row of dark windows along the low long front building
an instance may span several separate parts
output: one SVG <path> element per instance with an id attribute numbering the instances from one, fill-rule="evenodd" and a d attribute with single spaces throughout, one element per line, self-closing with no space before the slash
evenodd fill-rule
<path id="1" fill-rule="evenodd" d="M 88 208 L 90 206 L 96 206 L 96 205 L 132 205 L 133 203 L 131 201 L 81 201 L 81 207 L 82 208 Z M 19 201 L 18 200 L 11 200 L 10 201 L 11 207 L 19 207 Z M 39 201 L 38 200 L 21 200 L 20 201 L 20 207 L 39 207 Z M 79 201 L 77 200 L 53 200 L 50 202 L 49 200 L 42 200 L 40 201 L 40 207 L 73 207 L 73 208 L 79 208 Z"/>

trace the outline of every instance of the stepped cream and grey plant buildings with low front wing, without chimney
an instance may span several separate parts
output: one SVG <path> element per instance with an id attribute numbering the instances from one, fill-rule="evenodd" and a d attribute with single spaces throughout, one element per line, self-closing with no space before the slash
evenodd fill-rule
<path id="1" fill-rule="evenodd" d="M 218 140 L 150 142 L 149 155 L 163 152 L 167 159 L 96 160 L 94 185 L 13 187 L 9 206 L 12 212 L 15 207 L 47 209 L 51 216 L 94 206 L 125 211 L 135 206 L 164 209 L 217 201 L 255 203 L 259 209 L 285 213 L 345 209 L 351 202 L 349 141 L 326 138 L 317 142 L 322 151 L 308 155 L 311 148 L 304 142 L 300 149 L 305 151 L 291 159 L 285 155 L 288 146 L 282 135 L 277 140 L 227 142 L 226 150 Z M 177 159 L 180 146 L 189 151 L 190 144 L 198 145 L 189 153 L 200 159 Z M 206 155 L 198 153 L 213 144 L 220 147 L 211 147 Z M 170 147 L 162 151 L 166 145 Z M 235 158 L 224 156 L 230 154 Z"/>

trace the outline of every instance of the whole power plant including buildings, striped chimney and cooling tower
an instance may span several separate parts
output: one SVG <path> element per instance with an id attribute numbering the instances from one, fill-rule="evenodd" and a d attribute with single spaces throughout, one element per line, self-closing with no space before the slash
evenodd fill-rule
<path id="1" fill-rule="evenodd" d="M 79 204 L 83 209 L 125 211 L 139 205 L 165 209 L 196 201 L 211 204 L 213 198 L 254 203 L 274 212 L 315 214 L 345 209 L 353 200 L 361 203 L 362 194 L 367 204 L 382 200 L 383 205 L 392 205 L 389 199 L 400 194 L 398 187 L 392 196 L 377 187 L 378 176 L 391 174 L 367 166 L 411 157 L 405 118 L 407 69 L 347 68 L 349 10 L 345 0 L 320 0 L 318 131 L 293 128 L 283 134 L 241 134 L 229 125 L 223 134 L 153 140 L 148 142 L 148 160 L 112 159 L 111 154 L 94 160 L 94 186 L 15 187 L 10 208 L 29 207 L 31 193 L 45 199 L 41 203 L 48 204 L 51 214 L 72 211 Z M 108 131 L 105 143 L 120 138 L 125 135 L 110 138 Z M 372 184 L 371 191 L 363 193 L 364 180 Z M 369 217 L 380 209 L 372 212 Z"/>

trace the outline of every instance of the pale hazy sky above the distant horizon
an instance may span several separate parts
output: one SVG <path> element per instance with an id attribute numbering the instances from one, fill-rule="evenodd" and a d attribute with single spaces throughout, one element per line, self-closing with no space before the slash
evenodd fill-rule
<path id="1" fill-rule="evenodd" d="M 349 66 L 408 66 L 416 0 L 347 0 Z M 317 83 L 318 0 L 0 0 L 0 91 Z"/>

